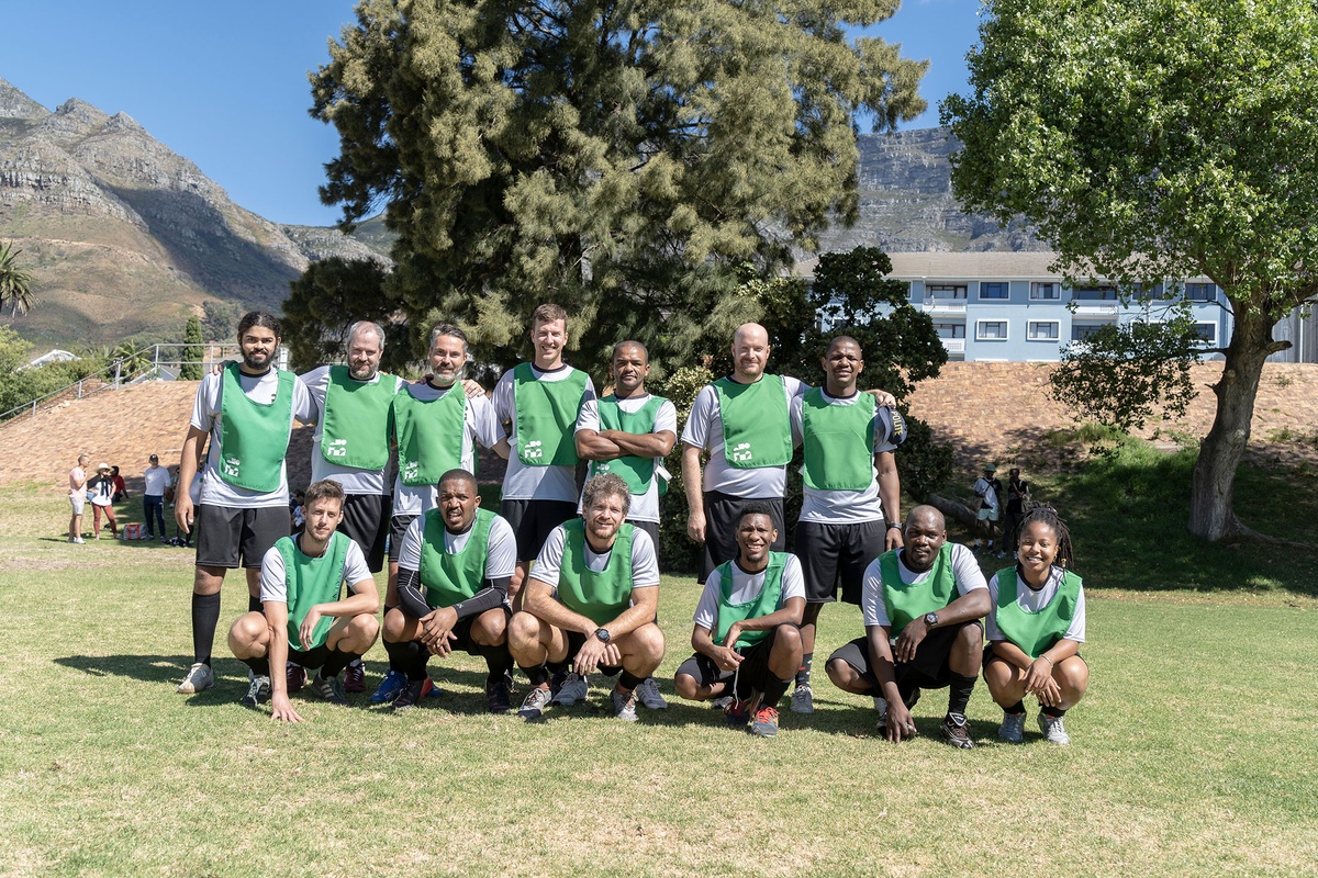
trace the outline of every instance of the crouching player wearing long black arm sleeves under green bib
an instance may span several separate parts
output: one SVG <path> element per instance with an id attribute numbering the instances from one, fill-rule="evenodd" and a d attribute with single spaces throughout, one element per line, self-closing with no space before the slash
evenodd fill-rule
<path id="1" fill-rule="evenodd" d="M 455 649 L 485 658 L 490 712 L 510 707 L 507 583 L 517 567 L 517 538 L 507 521 L 480 504 L 476 478 L 449 470 L 439 478 L 439 507 L 418 516 L 403 534 L 401 607 L 385 615 L 385 650 L 407 675 L 395 711 L 415 707 L 430 691 L 428 658 L 447 658 Z"/>

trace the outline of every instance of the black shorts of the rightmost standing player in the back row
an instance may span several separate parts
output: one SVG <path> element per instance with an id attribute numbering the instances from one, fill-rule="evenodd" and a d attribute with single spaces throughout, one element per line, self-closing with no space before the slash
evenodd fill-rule
<path id="1" fill-rule="evenodd" d="M 887 524 L 796 523 L 796 545 L 792 553 L 801 562 L 805 579 L 805 603 L 825 604 L 837 600 L 837 583 L 842 582 L 842 600 L 861 603 L 865 569 L 883 554 Z"/>

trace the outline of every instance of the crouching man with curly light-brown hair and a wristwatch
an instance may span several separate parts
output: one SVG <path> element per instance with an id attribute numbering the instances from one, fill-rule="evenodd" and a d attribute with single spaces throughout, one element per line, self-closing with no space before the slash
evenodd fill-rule
<path id="1" fill-rule="evenodd" d="M 585 675 L 598 670 L 618 675 L 613 715 L 637 721 L 635 688 L 663 661 L 664 640 L 652 621 L 659 607 L 655 546 L 650 534 L 626 524 L 630 502 L 631 490 L 619 477 L 592 478 L 583 517 L 554 528 L 535 559 L 525 609 L 513 616 L 507 637 L 532 686 L 518 711 L 522 719 L 539 719 L 550 703 L 585 700 Z"/>

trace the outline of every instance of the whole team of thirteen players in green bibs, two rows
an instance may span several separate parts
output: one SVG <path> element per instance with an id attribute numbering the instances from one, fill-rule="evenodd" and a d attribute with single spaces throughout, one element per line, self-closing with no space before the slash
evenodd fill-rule
<path id="1" fill-rule="evenodd" d="M 638 704 L 667 707 L 654 679 L 666 650 L 659 496 L 677 415 L 646 390 L 643 345 L 614 348 L 613 392 L 600 398 L 563 359 L 568 315 L 540 305 L 532 358 L 488 398 L 465 380 L 467 337 L 448 324 L 431 332 L 428 374 L 411 383 L 380 373 L 385 337 L 372 323 L 351 329 L 345 365 L 301 376 L 274 366 L 273 316 L 245 315 L 237 338 L 241 361 L 198 388 L 179 467 L 181 488 L 194 492 L 179 491 L 178 523 L 198 530 L 194 663 L 181 692 L 214 684 L 220 587 L 243 567 L 249 607 L 229 648 L 250 669 L 243 702 L 269 700 L 274 719 L 301 721 L 289 699 L 298 688 L 328 702 L 364 692 L 361 657 L 377 637 L 389 670 L 370 702 L 394 710 L 438 694 L 427 665 L 455 649 L 485 659 L 492 712 L 513 708 L 514 665 L 530 683 L 518 711 L 527 720 L 585 700 L 590 675 L 612 679 L 618 719 L 634 721 Z M 1065 524 L 1027 517 L 1019 565 L 986 583 L 973 554 L 946 541 L 937 509 L 900 517 L 894 452 L 905 425 L 890 395 L 861 391 L 859 344 L 832 341 L 821 387 L 766 371 L 770 353 L 762 326 L 738 328 L 733 373 L 700 391 L 681 433 L 687 533 L 705 550 L 695 654 L 676 692 L 716 702 L 729 723 L 766 737 L 793 686 L 791 710 L 812 713 L 816 627 L 841 587 L 866 633 L 830 656 L 828 675 L 874 696 L 890 740 L 916 733 L 909 708 L 921 690 L 946 687 L 938 733 L 974 746 L 965 710 L 983 669 L 1004 711 L 1002 737 L 1021 740 L 1033 695 L 1044 736 L 1066 742 L 1061 717 L 1083 695 L 1087 666 Z M 306 525 L 290 536 L 294 421 L 315 434 Z M 477 445 L 507 461 L 497 515 L 480 505 Z M 797 446 L 804 502 L 787 554 L 783 495 Z M 579 461 L 589 462 L 581 491 Z M 386 545 L 381 623 L 373 574 Z"/>

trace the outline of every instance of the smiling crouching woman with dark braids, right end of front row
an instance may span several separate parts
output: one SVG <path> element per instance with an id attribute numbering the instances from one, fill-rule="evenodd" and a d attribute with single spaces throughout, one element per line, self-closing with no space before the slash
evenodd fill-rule
<path id="1" fill-rule="evenodd" d="M 1024 740 L 1024 698 L 1040 704 L 1039 731 L 1066 746 L 1066 711 L 1085 696 L 1089 665 L 1079 657 L 1085 642 L 1085 588 L 1068 570 L 1074 563 L 1070 532 L 1048 508 L 1031 509 L 1017 533 L 1015 567 L 988 582 L 992 613 L 985 650 L 985 683 L 1003 710 L 998 737 Z M 1024 587 L 1021 587 L 1024 586 Z"/>

